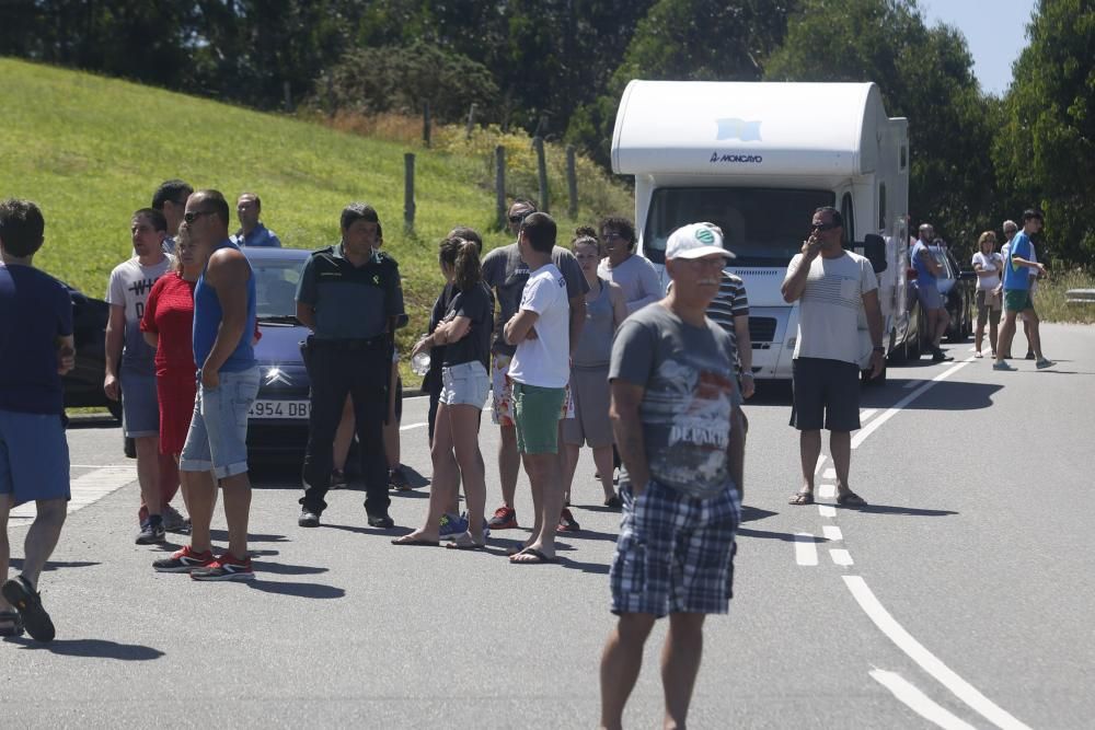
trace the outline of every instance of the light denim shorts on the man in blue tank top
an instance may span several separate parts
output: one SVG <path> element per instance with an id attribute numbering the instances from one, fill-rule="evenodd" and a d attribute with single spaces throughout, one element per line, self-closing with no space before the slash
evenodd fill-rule
<path id="1" fill-rule="evenodd" d="M 198 382 L 194 416 L 178 457 L 183 472 L 212 471 L 218 479 L 247 471 L 247 412 L 258 395 L 258 367 L 220 373 L 220 384 Z"/>

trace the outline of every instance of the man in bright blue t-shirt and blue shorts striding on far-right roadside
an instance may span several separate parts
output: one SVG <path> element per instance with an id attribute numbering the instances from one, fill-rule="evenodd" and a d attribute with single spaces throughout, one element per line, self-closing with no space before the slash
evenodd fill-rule
<path id="1" fill-rule="evenodd" d="M 1046 266 L 1034 260 L 1034 247 L 1030 244 L 1030 236 L 1041 230 L 1041 223 L 1040 212 L 1037 210 L 1024 211 L 1023 230 L 1011 240 L 1007 257 L 1004 258 L 1004 324 L 1000 328 L 1000 344 L 996 350 L 996 361 L 992 364 L 993 370 L 1018 369 L 1008 364 L 1003 357 L 1004 354 L 1012 351 L 1012 339 L 1015 337 L 1015 317 L 1018 314 L 1023 315 L 1024 322 L 1030 324 L 1027 337 L 1030 340 L 1030 349 L 1037 359 L 1036 367 L 1042 370 L 1053 366 L 1053 361 L 1041 352 L 1038 315 L 1034 311 L 1034 301 L 1030 299 L 1033 279 L 1030 271 L 1033 270 L 1040 276 L 1046 275 Z"/>

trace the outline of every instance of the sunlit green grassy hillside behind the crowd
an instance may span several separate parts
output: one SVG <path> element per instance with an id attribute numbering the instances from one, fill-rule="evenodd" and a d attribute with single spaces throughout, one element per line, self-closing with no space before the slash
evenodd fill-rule
<path id="1" fill-rule="evenodd" d="M 385 141 L 307 120 L 260 114 L 125 81 L 0 58 L 4 80 L 0 197 L 30 198 L 46 216 L 46 244 L 35 263 L 102 297 L 111 269 L 130 253 L 129 218 L 155 187 L 181 177 L 215 187 L 234 201 L 258 193 L 263 219 L 287 246 L 315 248 L 338 240 L 338 215 L 353 200 L 372 204 L 387 250 L 401 265 L 411 326 L 423 331 L 440 288 L 436 244 L 458 224 L 485 233 L 487 247 L 507 242 L 488 231 L 495 144 L 506 144 L 512 195 L 535 197 L 528 140 L 497 130 L 437 130 L 435 149 Z M 439 148 L 439 149 L 438 149 Z M 403 154 L 418 155 L 414 235 L 403 233 Z M 561 150 L 550 157 L 562 160 Z M 553 165 L 554 167 L 554 165 Z M 557 169 L 557 167 L 555 167 Z M 579 166 L 588 198 L 579 221 L 629 212 L 619 185 L 588 163 Z M 565 210 L 562 178 L 553 208 Z M 579 221 L 561 219 L 561 231 Z M 234 222 L 234 221 L 233 221 Z M 563 237 L 563 236 L 561 236 Z"/>

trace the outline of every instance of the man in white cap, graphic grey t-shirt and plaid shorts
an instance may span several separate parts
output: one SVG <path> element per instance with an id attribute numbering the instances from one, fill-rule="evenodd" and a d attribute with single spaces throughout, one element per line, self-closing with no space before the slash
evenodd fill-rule
<path id="1" fill-rule="evenodd" d="M 683 728 L 700 671 L 703 622 L 729 607 L 741 485 L 733 475 L 741 412 L 730 335 L 705 316 L 730 254 L 711 223 L 666 245 L 673 286 L 627 317 L 612 345 L 612 427 L 623 460 L 623 521 L 610 572 L 620 617 L 601 659 L 601 727 L 619 728 L 654 623 L 665 726 Z"/>

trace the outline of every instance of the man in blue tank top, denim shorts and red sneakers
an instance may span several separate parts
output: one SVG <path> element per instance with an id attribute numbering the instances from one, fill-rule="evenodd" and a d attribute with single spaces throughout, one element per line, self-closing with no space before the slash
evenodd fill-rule
<path id="1" fill-rule="evenodd" d="M 198 190 L 186 201 L 183 222 L 194 245 L 208 254 L 194 289 L 194 361 L 198 394 L 178 461 L 191 510 L 191 544 L 152 567 L 189 572 L 195 580 L 253 580 L 247 554 L 251 479 L 247 476 L 247 410 L 258 394 L 255 277 L 228 237 L 229 209 L 217 190 Z M 210 473 L 212 472 L 212 473 Z M 214 557 L 209 523 L 224 490 L 228 552 Z"/>

